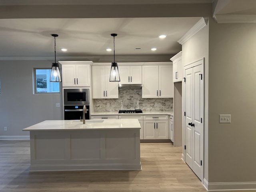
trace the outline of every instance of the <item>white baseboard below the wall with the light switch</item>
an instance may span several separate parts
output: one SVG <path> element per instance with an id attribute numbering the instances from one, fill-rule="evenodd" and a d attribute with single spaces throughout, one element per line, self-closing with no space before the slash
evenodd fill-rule
<path id="1" fill-rule="evenodd" d="M 236 190 L 256 190 L 256 182 L 210 182 L 204 179 L 204 187 L 208 191 L 236 191 Z"/>

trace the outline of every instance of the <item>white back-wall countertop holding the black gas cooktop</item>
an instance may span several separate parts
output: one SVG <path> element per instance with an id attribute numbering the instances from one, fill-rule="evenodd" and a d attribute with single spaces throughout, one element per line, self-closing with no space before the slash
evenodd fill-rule
<path id="1" fill-rule="evenodd" d="M 92 112 L 91 115 L 172 115 L 173 111 L 143 111 L 142 113 Z"/>

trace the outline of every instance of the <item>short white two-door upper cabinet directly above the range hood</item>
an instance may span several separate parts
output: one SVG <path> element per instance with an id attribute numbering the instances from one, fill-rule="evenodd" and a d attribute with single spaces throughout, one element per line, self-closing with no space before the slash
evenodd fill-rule
<path id="1" fill-rule="evenodd" d="M 141 84 L 142 66 L 118 66 L 119 84 Z"/>

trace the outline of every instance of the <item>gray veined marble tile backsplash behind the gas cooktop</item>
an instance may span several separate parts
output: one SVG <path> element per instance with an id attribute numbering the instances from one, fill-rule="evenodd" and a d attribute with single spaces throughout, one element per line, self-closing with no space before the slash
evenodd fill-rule
<path id="1" fill-rule="evenodd" d="M 109 106 L 108 106 L 109 103 Z M 93 99 L 94 112 L 118 110 L 172 111 L 173 98 L 142 98 L 142 90 L 119 90 L 118 99 Z"/>

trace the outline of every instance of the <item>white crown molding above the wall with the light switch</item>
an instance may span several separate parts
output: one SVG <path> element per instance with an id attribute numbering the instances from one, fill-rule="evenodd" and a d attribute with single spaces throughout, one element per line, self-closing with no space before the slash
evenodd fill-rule
<path id="1" fill-rule="evenodd" d="M 215 15 L 218 23 L 255 23 L 256 15 L 228 15 L 217 14 Z"/>

